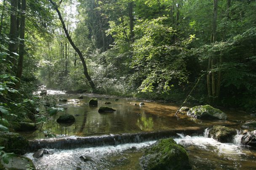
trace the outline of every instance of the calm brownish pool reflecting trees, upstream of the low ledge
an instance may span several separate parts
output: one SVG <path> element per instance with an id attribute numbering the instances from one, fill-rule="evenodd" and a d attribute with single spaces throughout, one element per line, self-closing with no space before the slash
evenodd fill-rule
<path id="1" fill-rule="evenodd" d="M 92 136 L 101 134 L 120 134 L 120 133 L 137 133 L 142 131 L 160 131 L 175 128 L 186 127 L 209 127 L 216 124 L 236 125 L 232 121 L 201 121 L 189 118 L 186 115 L 179 114 L 175 116 L 178 105 L 163 104 L 157 102 L 144 102 L 145 105 L 139 104 L 141 101 L 133 101 L 115 98 L 105 99 L 104 95 L 84 94 L 83 99 L 77 99 L 78 95 L 67 95 L 64 92 L 48 90 L 48 94 L 58 95 L 60 98 L 68 99 L 67 102 L 57 103 L 57 107 L 66 108 L 64 112 L 50 117 L 47 123 L 43 124 L 43 130 L 51 131 L 55 134 Z M 90 107 L 89 99 L 98 98 L 98 107 Z M 104 104 L 111 102 L 111 104 Z M 99 114 L 98 109 L 101 106 L 112 107 L 116 112 L 109 114 Z M 61 114 L 72 114 L 75 116 L 75 123 L 71 126 L 63 126 L 56 123 L 56 119 Z M 234 118 L 233 113 L 229 115 Z M 239 117 L 240 118 L 240 117 Z M 248 117 L 247 117 L 248 119 Z M 37 130 L 33 133 L 27 132 L 23 135 L 28 139 L 44 138 L 43 130 Z"/>

